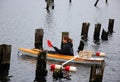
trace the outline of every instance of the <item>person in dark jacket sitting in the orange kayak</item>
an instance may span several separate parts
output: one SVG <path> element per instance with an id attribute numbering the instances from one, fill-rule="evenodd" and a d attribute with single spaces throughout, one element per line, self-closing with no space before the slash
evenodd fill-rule
<path id="1" fill-rule="evenodd" d="M 58 49 L 56 46 L 53 46 L 53 48 L 55 49 L 55 51 L 59 54 L 63 54 L 63 55 L 70 55 L 73 56 L 73 43 L 72 43 L 72 39 L 70 39 L 69 37 L 65 36 L 62 38 L 62 47 L 61 49 Z"/>

